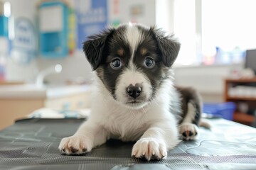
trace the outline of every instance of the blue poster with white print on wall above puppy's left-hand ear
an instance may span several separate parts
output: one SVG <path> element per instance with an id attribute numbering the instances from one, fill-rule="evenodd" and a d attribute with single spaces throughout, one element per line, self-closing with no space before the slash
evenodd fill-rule
<path id="1" fill-rule="evenodd" d="M 78 49 L 89 35 L 100 33 L 107 26 L 107 0 L 76 0 Z"/>

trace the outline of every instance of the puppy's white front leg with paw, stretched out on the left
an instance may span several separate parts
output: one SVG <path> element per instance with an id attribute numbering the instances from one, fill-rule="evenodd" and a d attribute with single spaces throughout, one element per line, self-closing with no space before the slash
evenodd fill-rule
<path id="1" fill-rule="evenodd" d="M 107 140 L 107 131 L 95 125 L 97 123 L 83 123 L 75 135 L 61 140 L 58 149 L 65 154 L 82 154 L 102 145 Z"/>

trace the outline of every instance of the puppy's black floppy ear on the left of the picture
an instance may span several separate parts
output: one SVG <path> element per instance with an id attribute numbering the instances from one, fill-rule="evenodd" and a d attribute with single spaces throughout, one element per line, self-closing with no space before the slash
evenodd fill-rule
<path id="1" fill-rule="evenodd" d="M 114 29 L 110 28 L 104 32 L 88 37 L 88 40 L 83 42 L 83 51 L 88 62 L 92 66 L 92 70 L 97 69 L 100 63 L 105 61 L 107 57 L 107 39 L 110 38 Z"/>

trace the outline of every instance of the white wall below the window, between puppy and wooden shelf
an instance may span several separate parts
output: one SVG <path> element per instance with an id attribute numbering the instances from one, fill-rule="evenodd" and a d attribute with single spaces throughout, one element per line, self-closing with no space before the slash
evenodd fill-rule
<path id="1" fill-rule="evenodd" d="M 224 80 L 230 77 L 232 70 L 241 70 L 242 64 L 174 67 L 175 83 L 179 86 L 192 86 L 203 96 L 206 102 L 222 102 Z"/>

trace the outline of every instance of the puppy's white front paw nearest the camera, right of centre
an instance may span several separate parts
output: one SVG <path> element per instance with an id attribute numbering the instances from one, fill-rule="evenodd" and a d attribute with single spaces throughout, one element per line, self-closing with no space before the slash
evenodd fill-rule
<path id="1" fill-rule="evenodd" d="M 132 148 L 132 157 L 150 159 L 162 159 L 166 157 L 166 144 L 154 138 L 142 138 Z"/>

